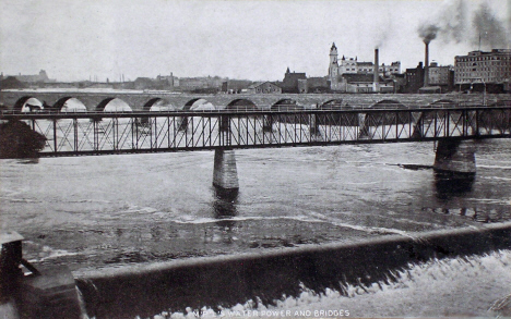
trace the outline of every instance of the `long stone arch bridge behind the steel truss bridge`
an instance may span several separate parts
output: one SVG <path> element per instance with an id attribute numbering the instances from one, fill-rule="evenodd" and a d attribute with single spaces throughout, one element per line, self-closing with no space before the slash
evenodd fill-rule
<path id="1" fill-rule="evenodd" d="M 348 107 L 370 107 L 382 100 L 394 100 L 399 103 L 408 107 L 417 108 L 428 106 L 438 101 L 449 101 L 455 106 L 474 106 L 474 105 L 494 105 L 501 99 L 500 96 L 483 95 L 335 95 L 335 94 L 300 94 L 300 95 L 282 95 L 282 94 L 261 94 L 261 95 L 206 95 L 197 96 L 189 94 L 173 94 L 165 91 L 45 91 L 45 90 L 1 90 L 0 106 L 3 105 L 8 110 L 21 110 L 28 102 L 32 106 L 43 107 L 49 110 L 69 110 L 69 107 L 76 108 L 79 105 L 84 111 L 96 112 L 103 111 L 104 107 L 111 100 L 117 102 L 117 106 L 123 106 L 124 109 L 131 111 L 148 111 L 151 108 L 161 109 L 164 107 L 167 110 L 183 110 L 186 106 L 193 103 L 193 100 L 201 100 L 201 103 L 210 103 L 215 109 L 225 109 L 234 100 L 242 99 L 249 101 L 258 109 L 268 109 L 278 101 L 285 99 L 294 101 L 297 106 L 305 109 L 317 108 L 323 105 L 332 103 Z M 506 105 L 500 101 L 499 105 Z M 509 101 L 507 101 L 509 106 Z M 110 103 L 111 107 L 111 103 Z M 198 106 L 193 106 L 197 108 Z M 192 109 L 193 109 L 192 108 Z"/>

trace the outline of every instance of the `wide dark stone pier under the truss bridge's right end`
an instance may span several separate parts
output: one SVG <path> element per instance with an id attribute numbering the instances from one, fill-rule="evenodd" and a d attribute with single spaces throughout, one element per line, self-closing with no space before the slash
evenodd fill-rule
<path id="1" fill-rule="evenodd" d="M 475 174 L 476 162 L 473 142 L 439 140 L 433 169 L 443 172 Z"/>

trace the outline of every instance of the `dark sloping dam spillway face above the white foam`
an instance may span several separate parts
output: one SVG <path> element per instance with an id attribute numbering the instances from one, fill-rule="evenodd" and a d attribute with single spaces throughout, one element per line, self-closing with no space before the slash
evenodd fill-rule
<path id="1" fill-rule="evenodd" d="M 396 280 L 411 263 L 511 248 L 511 222 L 392 235 L 268 253 L 192 258 L 80 273 L 76 284 L 96 318 L 147 317 L 163 310 L 273 304 L 301 287 L 346 292 L 346 285 Z"/>

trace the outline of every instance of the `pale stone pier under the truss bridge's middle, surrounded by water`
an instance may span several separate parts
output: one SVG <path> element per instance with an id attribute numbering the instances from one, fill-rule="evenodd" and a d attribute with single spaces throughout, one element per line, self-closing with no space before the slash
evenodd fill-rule
<path id="1" fill-rule="evenodd" d="M 239 189 L 236 157 L 231 149 L 216 149 L 213 185 L 218 191 L 236 193 Z"/>

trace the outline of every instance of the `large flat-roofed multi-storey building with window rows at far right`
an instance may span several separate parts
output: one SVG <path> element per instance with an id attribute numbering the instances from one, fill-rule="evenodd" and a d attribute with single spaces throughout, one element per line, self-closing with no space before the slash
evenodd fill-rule
<path id="1" fill-rule="evenodd" d="M 461 89 L 479 84 L 494 89 L 509 87 L 511 82 L 511 49 L 490 52 L 472 51 L 454 58 L 454 84 Z"/>

